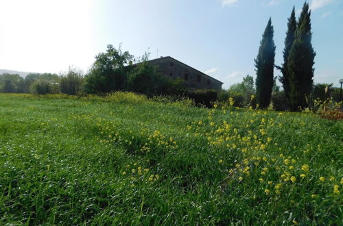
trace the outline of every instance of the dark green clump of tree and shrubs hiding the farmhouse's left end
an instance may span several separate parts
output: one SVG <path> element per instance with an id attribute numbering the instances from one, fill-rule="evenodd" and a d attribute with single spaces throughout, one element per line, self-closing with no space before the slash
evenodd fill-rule
<path id="1" fill-rule="evenodd" d="M 119 90 L 138 92 L 148 97 L 178 95 L 181 79 L 169 79 L 147 62 L 149 53 L 134 59 L 128 51 L 108 45 L 106 53 L 99 53 L 85 77 L 84 92 L 102 94 Z M 136 64 L 134 64 L 136 62 Z"/>

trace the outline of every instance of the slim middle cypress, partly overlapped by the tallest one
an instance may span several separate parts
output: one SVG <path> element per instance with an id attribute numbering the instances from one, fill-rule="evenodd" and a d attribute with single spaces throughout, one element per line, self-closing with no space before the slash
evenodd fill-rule
<path id="1" fill-rule="evenodd" d="M 281 73 L 282 73 L 282 76 L 279 77 L 279 81 L 281 81 L 281 84 L 283 85 L 283 90 L 285 90 L 285 97 L 287 99 L 287 102 L 289 102 L 289 95 L 288 95 L 289 94 L 289 75 L 287 71 L 288 55 L 289 55 L 289 50 L 291 49 L 294 39 L 295 39 L 295 33 L 296 33 L 296 13 L 293 7 L 291 16 L 289 16 L 288 23 L 287 23 L 285 49 L 283 49 L 283 64 L 281 67 L 276 66 L 276 68 L 281 70 Z"/>

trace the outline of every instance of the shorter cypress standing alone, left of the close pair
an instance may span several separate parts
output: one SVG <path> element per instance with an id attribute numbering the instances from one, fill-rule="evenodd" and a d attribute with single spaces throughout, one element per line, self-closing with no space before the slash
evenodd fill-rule
<path id="1" fill-rule="evenodd" d="M 274 28 L 272 19 L 269 18 L 267 27 L 260 42 L 259 53 L 255 59 L 256 78 L 256 96 L 259 108 L 267 108 L 272 97 L 272 87 L 274 84 Z"/>

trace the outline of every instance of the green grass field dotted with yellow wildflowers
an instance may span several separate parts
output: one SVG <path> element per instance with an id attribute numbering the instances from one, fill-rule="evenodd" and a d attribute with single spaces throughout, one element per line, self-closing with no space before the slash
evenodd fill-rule
<path id="1" fill-rule="evenodd" d="M 0 95 L 0 225 L 342 225 L 343 121 Z"/>

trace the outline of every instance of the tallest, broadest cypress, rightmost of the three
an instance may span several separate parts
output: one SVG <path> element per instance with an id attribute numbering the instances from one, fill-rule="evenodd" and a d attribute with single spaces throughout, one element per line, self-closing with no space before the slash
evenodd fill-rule
<path id="1" fill-rule="evenodd" d="M 296 28 L 295 39 L 287 58 L 289 108 L 297 111 L 307 107 L 306 95 L 311 93 L 314 77 L 314 57 L 311 44 L 311 11 L 304 3 Z"/>

